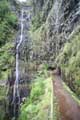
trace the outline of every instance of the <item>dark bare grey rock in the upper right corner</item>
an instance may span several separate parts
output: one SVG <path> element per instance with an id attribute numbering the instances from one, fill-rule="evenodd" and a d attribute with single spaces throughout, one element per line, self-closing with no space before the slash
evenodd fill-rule
<path id="1" fill-rule="evenodd" d="M 63 17 L 61 23 L 65 26 L 65 32 L 72 32 L 74 27 L 80 22 L 80 1 L 79 0 L 63 0 L 61 5 Z"/>

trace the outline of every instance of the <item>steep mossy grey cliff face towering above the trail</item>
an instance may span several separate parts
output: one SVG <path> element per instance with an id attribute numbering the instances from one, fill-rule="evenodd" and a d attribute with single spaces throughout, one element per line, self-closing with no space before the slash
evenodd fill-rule
<path id="1" fill-rule="evenodd" d="M 73 63 L 70 63 L 70 58 L 72 61 L 73 56 L 76 57 L 80 51 L 80 49 L 75 47 L 74 50 L 72 49 L 72 46 L 76 44 L 76 37 L 78 37 L 77 40 L 79 41 L 80 1 L 47 0 L 42 2 L 41 0 L 35 0 L 33 9 L 34 17 L 32 20 L 31 35 L 36 59 L 39 59 L 42 63 L 43 61 L 50 64 L 55 62 L 62 67 L 63 71 L 66 69 L 64 76 L 66 76 L 65 79 L 67 78 L 69 80 L 68 82 L 67 80 L 65 81 L 69 84 L 71 80 L 71 89 L 77 91 L 79 84 L 75 85 L 75 80 L 78 80 L 78 83 L 80 83 L 79 78 L 76 78 L 76 76 L 79 77 L 80 63 L 78 59 L 77 61 L 73 60 L 73 63 L 78 63 L 73 70 L 73 67 L 70 66 L 70 64 L 73 66 Z M 70 48 L 69 46 L 65 47 L 67 46 L 66 42 L 71 43 Z M 77 46 L 79 48 L 79 44 L 77 44 Z M 66 54 L 64 48 L 67 49 L 68 59 L 67 56 L 64 55 Z M 68 51 L 71 54 L 68 53 Z M 73 53 L 75 54 L 73 55 Z M 67 71 L 70 73 L 67 73 Z M 75 75 L 73 75 L 73 71 Z"/>

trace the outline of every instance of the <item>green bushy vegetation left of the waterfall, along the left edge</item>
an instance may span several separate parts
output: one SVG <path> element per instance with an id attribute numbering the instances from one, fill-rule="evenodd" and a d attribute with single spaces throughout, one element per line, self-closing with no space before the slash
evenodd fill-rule
<path id="1" fill-rule="evenodd" d="M 17 17 L 7 0 L 0 1 L 0 79 L 6 79 L 14 61 L 11 49 L 17 29 Z"/>

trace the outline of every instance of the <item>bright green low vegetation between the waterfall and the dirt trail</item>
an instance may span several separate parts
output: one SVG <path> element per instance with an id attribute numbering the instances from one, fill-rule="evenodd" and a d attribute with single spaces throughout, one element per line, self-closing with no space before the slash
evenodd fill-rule
<path id="1" fill-rule="evenodd" d="M 54 120 L 57 120 L 56 101 L 54 104 L 51 102 L 53 98 L 55 99 L 51 88 L 51 78 L 48 77 L 46 70 L 42 70 L 32 82 L 30 96 L 21 105 L 19 120 L 51 120 L 52 111 L 54 111 Z"/>

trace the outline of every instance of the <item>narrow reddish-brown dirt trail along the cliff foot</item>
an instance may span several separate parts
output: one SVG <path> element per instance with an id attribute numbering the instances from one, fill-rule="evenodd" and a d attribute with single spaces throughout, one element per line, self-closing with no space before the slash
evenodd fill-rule
<path id="1" fill-rule="evenodd" d="M 80 120 L 80 106 L 70 93 L 64 89 L 60 76 L 54 76 L 53 87 L 59 105 L 60 120 Z"/>

